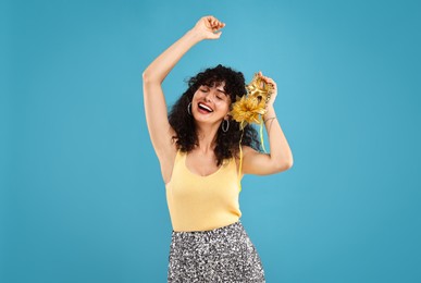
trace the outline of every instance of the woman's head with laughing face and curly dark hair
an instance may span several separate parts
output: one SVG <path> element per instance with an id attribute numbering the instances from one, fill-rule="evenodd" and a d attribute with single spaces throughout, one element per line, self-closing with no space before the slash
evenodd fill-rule
<path id="1" fill-rule="evenodd" d="M 175 132 L 173 138 L 179 149 L 183 152 L 196 149 L 199 138 L 207 131 L 203 128 L 213 125 L 215 165 L 221 165 L 233 156 L 238 158 L 242 132 L 239 123 L 232 120 L 228 112 L 232 102 L 245 94 L 243 73 L 221 64 L 190 77 L 188 88 L 174 103 L 169 115 L 170 125 Z M 249 125 L 245 128 L 242 144 L 261 150 L 255 127 Z"/>

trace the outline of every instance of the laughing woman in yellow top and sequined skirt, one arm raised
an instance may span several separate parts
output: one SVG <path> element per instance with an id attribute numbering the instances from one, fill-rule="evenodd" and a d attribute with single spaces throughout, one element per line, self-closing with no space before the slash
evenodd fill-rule
<path id="1" fill-rule="evenodd" d="M 256 130 L 247 125 L 242 136 L 239 123 L 230 115 L 246 93 L 243 74 L 230 67 L 218 65 L 191 77 L 168 116 L 163 79 L 187 50 L 220 38 L 224 26 L 213 16 L 201 17 L 143 74 L 148 131 L 173 225 L 168 282 L 265 282 L 260 256 L 239 220 L 237 181 L 244 174 L 274 174 L 293 164 L 273 108 L 276 84 L 261 72 L 274 89 L 263 116 L 271 153 L 260 152 Z"/>

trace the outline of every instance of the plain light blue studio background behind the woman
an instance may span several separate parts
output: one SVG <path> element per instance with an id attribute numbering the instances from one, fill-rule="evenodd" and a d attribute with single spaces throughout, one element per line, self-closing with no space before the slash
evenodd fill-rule
<path id="1" fill-rule="evenodd" d="M 419 1 L 3 1 L 1 282 L 166 282 L 171 222 L 141 72 L 263 71 L 294 167 L 246 175 L 269 283 L 421 282 Z M 268 136 L 264 136 L 269 148 Z"/>

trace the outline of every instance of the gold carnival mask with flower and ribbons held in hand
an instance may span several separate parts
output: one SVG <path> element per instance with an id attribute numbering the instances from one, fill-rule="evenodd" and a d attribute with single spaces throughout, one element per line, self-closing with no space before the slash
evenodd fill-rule
<path id="1" fill-rule="evenodd" d="M 263 115 L 267 113 L 267 103 L 271 98 L 273 86 L 267 84 L 262 77 L 256 73 L 251 82 L 246 85 L 247 94 L 243 97 L 237 96 L 236 101 L 233 103 L 233 110 L 230 111 L 232 118 L 237 121 L 239 128 L 243 131 L 239 139 L 239 175 L 242 174 L 243 164 L 243 150 L 242 139 L 244 128 L 247 124 L 256 123 L 260 124 L 260 140 L 264 152 L 267 152 L 263 143 Z M 242 183 L 238 179 L 239 190 L 242 190 Z"/>

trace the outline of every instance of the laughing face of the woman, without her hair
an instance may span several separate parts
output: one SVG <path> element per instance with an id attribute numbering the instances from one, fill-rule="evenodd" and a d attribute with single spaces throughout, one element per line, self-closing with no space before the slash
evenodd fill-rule
<path id="1" fill-rule="evenodd" d="M 225 82 L 219 86 L 201 85 L 191 101 L 191 113 L 197 121 L 222 121 L 230 112 L 231 97 L 224 90 Z"/>

